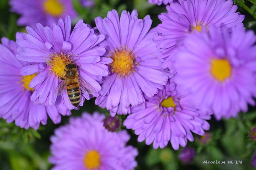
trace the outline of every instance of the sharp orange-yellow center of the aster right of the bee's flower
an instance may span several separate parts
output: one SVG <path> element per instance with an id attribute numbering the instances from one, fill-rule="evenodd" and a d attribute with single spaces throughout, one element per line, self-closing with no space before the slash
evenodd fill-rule
<path id="1" fill-rule="evenodd" d="M 136 71 L 135 67 L 138 66 L 138 62 L 135 61 L 134 53 L 131 50 L 127 50 L 127 47 L 115 49 L 111 52 L 113 62 L 110 63 L 112 73 L 117 73 L 118 77 L 127 77 L 131 72 Z"/>

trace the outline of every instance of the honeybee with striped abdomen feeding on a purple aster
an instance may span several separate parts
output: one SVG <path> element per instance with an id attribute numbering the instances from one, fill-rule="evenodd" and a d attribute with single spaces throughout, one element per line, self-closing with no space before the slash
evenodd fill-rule
<path id="1" fill-rule="evenodd" d="M 65 76 L 61 78 L 61 82 L 57 86 L 55 93 L 60 95 L 64 92 L 64 87 L 67 91 L 69 100 L 75 107 L 79 106 L 81 99 L 81 89 L 83 92 L 93 94 L 94 89 L 86 81 L 79 76 L 77 65 L 75 63 L 67 63 L 65 66 Z M 82 93 L 83 94 L 83 93 Z"/>

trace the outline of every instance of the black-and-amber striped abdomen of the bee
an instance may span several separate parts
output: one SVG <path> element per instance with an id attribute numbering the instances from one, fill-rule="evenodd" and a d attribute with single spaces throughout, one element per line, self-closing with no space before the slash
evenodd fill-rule
<path id="1" fill-rule="evenodd" d="M 81 90 L 78 82 L 67 83 L 67 93 L 71 104 L 77 107 L 81 99 Z"/>

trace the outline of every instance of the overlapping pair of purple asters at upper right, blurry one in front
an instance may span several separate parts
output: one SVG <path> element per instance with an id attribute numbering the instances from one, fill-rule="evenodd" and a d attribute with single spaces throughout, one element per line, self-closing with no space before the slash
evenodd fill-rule
<path id="1" fill-rule="evenodd" d="M 177 73 L 174 81 L 217 120 L 237 116 L 254 105 L 255 40 L 243 28 L 244 15 L 232 0 L 173 2 L 159 15 L 161 33 L 153 39 L 164 49 L 162 67 Z"/>

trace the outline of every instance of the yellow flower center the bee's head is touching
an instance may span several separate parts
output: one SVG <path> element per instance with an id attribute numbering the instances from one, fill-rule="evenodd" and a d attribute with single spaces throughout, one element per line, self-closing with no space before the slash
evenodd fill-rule
<path id="1" fill-rule="evenodd" d="M 58 76 L 58 78 L 63 78 L 65 76 L 65 66 L 67 65 L 67 63 L 70 63 L 71 61 L 73 61 L 70 58 L 70 55 L 66 56 L 66 54 L 51 54 L 50 55 L 51 60 L 50 61 L 46 61 L 47 65 L 51 67 L 51 71 L 53 72 L 53 74 L 55 76 Z"/>

